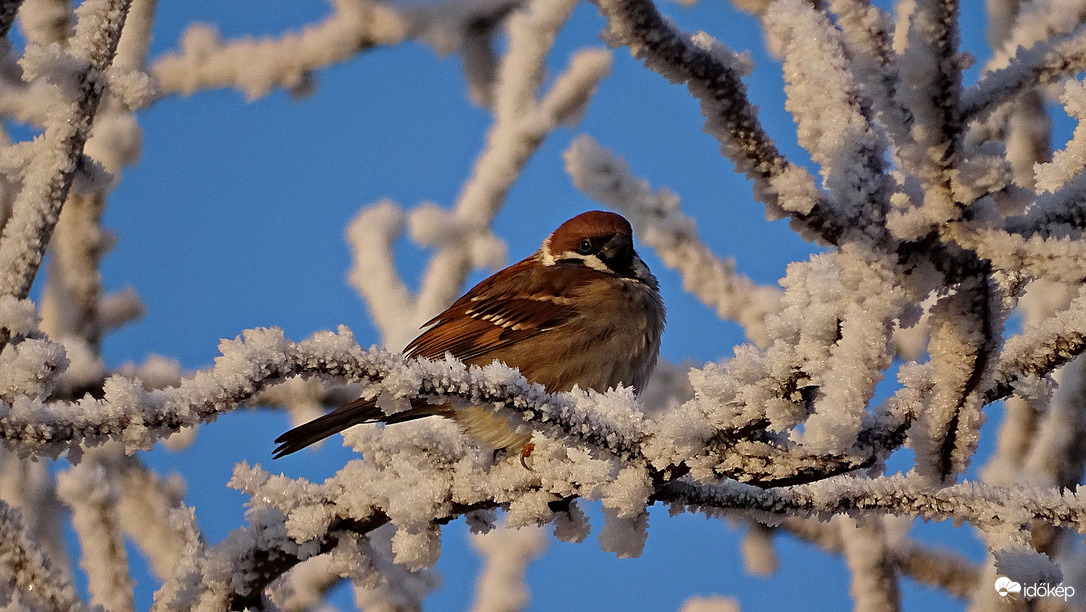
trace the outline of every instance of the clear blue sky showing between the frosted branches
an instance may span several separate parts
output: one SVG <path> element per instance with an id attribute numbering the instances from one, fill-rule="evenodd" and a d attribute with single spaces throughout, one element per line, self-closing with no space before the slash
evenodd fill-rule
<path id="1" fill-rule="evenodd" d="M 734 50 L 750 51 L 756 69 L 748 85 L 762 122 L 792 160 L 808 163 L 784 111 L 780 66 L 767 56 L 757 22 L 725 4 L 705 0 L 689 9 L 661 8 L 684 28 L 705 29 Z M 983 62 L 983 7 L 965 4 L 965 48 Z M 327 10 L 313 1 L 162 2 L 152 58 L 175 49 L 192 22 L 215 24 L 228 39 L 275 35 L 317 21 Z M 602 27 L 596 9 L 581 4 L 559 38 L 552 67 L 564 65 L 576 49 L 602 47 Z M 534 251 L 561 220 L 598 207 L 563 170 L 561 152 L 582 132 L 626 157 L 654 187 L 678 193 L 716 253 L 734 257 L 756 281 L 775 283 L 790 262 L 805 259 L 815 247 L 784 221 L 765 220 L 748 181 L 703 132 L 698 105 L 685 89 L 646 71 L 624 49 L 615 59 L 584 120 L 554 133 L 509 193 L 496 221 L 497 233 L 509 242 L 509 260 Z M 975 68 L 971 75 L 975 78 Z M 364 53 L 320 72 L 316 81 L 316 91 L 300 100 L 278 91 L 249 102 L 237 91 L 219 90 L 166 99 L 139 113 L 143 153 L 109 201 L 104 225 L 117 243 L 103 276 L 111 290 L 135 288 L 148 311 L 105 339 L 108 364 L 160 354 L 202 368 L 217 355 L 219 339 L 260 326 L 278 326 L 301 340 L 346 324 L 363 345 L 378 341 L 365 305 L 345 282 L 345 225 L 383 197 L 405 207 L 424 201 L 450 206 L 482 146 L 490 116 L 468 101 L 458 60 L 417 43 Z M 680 279 L 646 255 L 669 308 L 662 356 L 694 365 L 728 358 L 743 341 L 741 330 L 684 294 Z M 397 258 L 414 283 L 425 253 L 404 242 Z M 317 451 L 273 462 L 272 441 L 288 426 L 282 412 L 240 410 L 202 428 L 188 449 L 156 449 L 144 459 L 185 475 L 187 501 L 214 543 L 243 524 L 244 497 L 225 486 L 235 463 L 323 479 L 352 457 L 333 438 Z M 990 428 L 985 433 L 990 439 Z M 597 510 L 592 507 L 595 530 Z M 779 538 L 778 573 L 752 577 L 738 554 L 742 530 L 730 523 L 669 518 L 654 508 L 651 524 L 645 553 L 635 560 L 601 552 L 596 531 L 581 545 L 552 540 L 530 569 L 532 609 L 607 602 L 613 609 L 673 610 L 691 596 L 710 594 L 736 597 L 745 611 L 810 609 L 816 601 L 824 610 L 851 607 L 844 563 L 811 546 Z M 466 533 L 463 522 L 445 531 L 438 565 L 444 582 L 428 600 L 430 610 L 464 609 L 472 597 L 479 561 Z M 960 541 L 955 546 L 983 558 L 983 548 L 964 530 L 936 525 L 923 534 L 930 541 Z M 140 581 L 137 608 L 150 605 L 154 588 L 150 577 Z M 336 601 L 350 609 L 346 590 L 340 587 Z M 906 609 L 960 607 L 907 581 L 905 594 Z"/>

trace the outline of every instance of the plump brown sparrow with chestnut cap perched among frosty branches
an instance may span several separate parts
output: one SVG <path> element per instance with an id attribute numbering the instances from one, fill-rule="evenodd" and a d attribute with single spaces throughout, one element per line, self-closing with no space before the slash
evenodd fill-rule
<path id="1" fill-rule="evenodd" d="M 483 280 L 404 349 L 407 357 L 467 365 L 494 360 L 518 368 L 547 392 L 641 391 L 656 366 L 664 331 L 656 277 L 633 250 L 633 230 L 620 215 L 592 211 L 561 224 L 529 257 Z M 384 415 L 374 399 L 357 399 L 276 438 L 275 457 L 290 455 L 358 423 L 400 423 L 442 416 L 492 449 L 530 450 L 531 435 L 482 407 L 454 409 L 416 399 Z"/>

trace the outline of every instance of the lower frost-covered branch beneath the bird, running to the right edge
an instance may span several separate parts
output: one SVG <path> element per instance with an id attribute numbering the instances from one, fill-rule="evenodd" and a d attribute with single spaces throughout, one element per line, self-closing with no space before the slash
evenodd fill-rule
<path id="1" fill-rule="evenodd" d="M 568 493 L 593 497 L 602 493 L 605 509 L 609 503 L 615 505 L 614 519 L 608 520 L 618 521 L 619 525 L 622 517 L 636 517 L 639 507 L 643 511 L 645 503 L 658 500 L 670 505 L 673 511 L 696 511 L 711 517 L 741 511 L 762 521 L 797 515 L 825 518 L 864 510 L 936 521 L 964 520 L 977 525 L 1032 518 L 1086 532 L 1086 507 L 1074 494 L 1060 495 L 1055 490 L 972 483 L 932 489 L 922 480 L 902 476 L 841 477 L 772 489 L 733 482 L 703 485 L 683 479 L 646 489 L 647 483 L 624 477 L 626 470 L 601 471 L 606 460 L 601 462 L 588 455 L 573 454 L 572 448 L 556 454 L 557 447 L 544 445 L 529 472 L 515 460 L 493 463 L 488 454 L 446 437 L 451 429 L 433 428 L 414 434 L 402 430 L 374 433 L 378 435 L 356 436 L 367 446 L 372 445 L 368 446 L 367 459 L 349 463 L 319 485 L 240 467 L 235 486 L 254 499 L 249 511 L 250 525 L 213 549 L 204 549 L 194 566 L 167 582 L 160 594 L 161 604 L 187 608 L 191 600 L 216 597 L 225 598 L 218 599 L 223 605 L 231 601 L 235 605 L 251 605 L 261 600 L 266 585 L 296 563 L 327 552 L 342 553 L 337 550 L 344 543 L 357 551 L 365 534 L 389 522 L 397 527 L 392 540 L 397 562 L 428 566 L 438 553 L 439 540 L 433 530 L 450 520 L 493 508 L 495 502 L 509 505 L 510 521 L 561 520 L 561 509 L 569 503 L 565 499 Z M 403 452 L 408 452 L 413 461 L 393 461 L 397 456 L 403 459 Z M 359 479 L 368 483 L 365 489 L 352 484 Z M 430 484 L 408 486 L 424 482 Z M 464 486 L 468 482 L 475 484 Z M 348 495 L 349 490 L 352 493 Z M 608 546 L 603 538 L 602 541 Z M 227 575 L 207 574 L 222 572 L 213 569 L 226 566 L 243 568 L 250 582 L 227 583 Z M 371 562 L 354 565 L 358 575 L 369 571 Z M 228 589 L 223 590 L 228 584 Z M 185 585 L 193 588 L 187 589 Z"/>

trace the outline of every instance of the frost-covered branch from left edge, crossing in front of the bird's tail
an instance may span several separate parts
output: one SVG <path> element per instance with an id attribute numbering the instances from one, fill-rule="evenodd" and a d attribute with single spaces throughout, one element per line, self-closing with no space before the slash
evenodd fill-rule
<path id="1" fill-rule="evenodd" d="M 22 344 L 9 349 L 14 352 L 18 346 Z M 345 328 L 339 334 L 326 332 L 300 343 L 288 341 L 280 330 L 248 330 L 238 340 L 224 341 L 219 349 L 222 356 L 215 368 L 198 372 L 176 387 L 148 391 L 139 381 L 112 377 L 105 381 L 101 399 L 42 401 L 14 397 L 12 404 L 3 406 L 5 413 L 0 415 L 0 438 L 24 452 L 51 456 L 77 456 L 80 445 L 111 439 L 135 451 L 233 410 L 265 386 L 287 378 L 332 375 L 379 382 L 394 390 L 397 398 L 432 394 L 471 404 L 498 404 L 541 426 L 576 432 L 573 435 L 586 443 L 611 452 L 640 451 L 642 432 L 635 415 L 593 417 L 576 407 L 595 404 L 594 392 L 551 396 L 501 364 L 470 371 L 455 360 L 411 366 L 396 354 L 363 352 Z M 617 392 L 616 401 L 628 410 L 632 392 Z"/>

